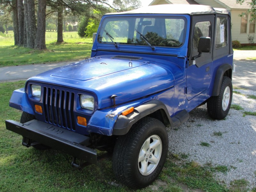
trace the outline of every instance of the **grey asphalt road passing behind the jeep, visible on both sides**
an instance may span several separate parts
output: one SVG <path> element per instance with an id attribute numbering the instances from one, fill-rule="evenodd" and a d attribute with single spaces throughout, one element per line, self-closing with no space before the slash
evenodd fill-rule
<path id="1" fill-rule="evenodd" d="M 248 60 L 255 56 L 256 51 L 236 51 L 234 53 L 235 71 L 233 71 L 232 79 L 234 86 L 256 91 L 256 61 Z M 29 77 L 70 62 L 2 67 L 0 68 L 0 82 L 27 80 Z"/>

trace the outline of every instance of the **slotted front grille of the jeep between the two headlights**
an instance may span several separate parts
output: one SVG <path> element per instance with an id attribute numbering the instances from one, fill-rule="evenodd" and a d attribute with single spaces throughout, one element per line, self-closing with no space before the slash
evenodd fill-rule
<path id="1" fill-rule="evenodd" d="M 43 104 L 45 121 L 66 129 L 75 130 L 75 93 L 58 88 L 44 87 Z"/>

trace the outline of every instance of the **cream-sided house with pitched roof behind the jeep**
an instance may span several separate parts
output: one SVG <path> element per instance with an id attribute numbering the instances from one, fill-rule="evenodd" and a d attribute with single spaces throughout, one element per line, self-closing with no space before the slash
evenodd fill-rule
<path id="1" fill-rule="evenodd" d="M 246 0 L 240 5 L 236 4 L 236 0 L 153 0 L 149 5 L 201 4 L 216 8 L 225 8 L 231 13 L 232 40 L 238 40 L 241 44 L 248 44 L 248 35 L 254 35 L 254 42 L 256 42 L 255 20 L 250 21 L 251 14 L 245 14 L 243 17 L 239 15 L 247 12 L 250 8 L 247 2 L 250 1 Z"/>

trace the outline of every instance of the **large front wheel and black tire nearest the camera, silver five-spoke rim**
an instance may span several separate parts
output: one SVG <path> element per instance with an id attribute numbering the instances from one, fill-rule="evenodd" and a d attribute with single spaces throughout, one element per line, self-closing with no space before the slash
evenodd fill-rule
<path id="1" fill-rule="evenodd" d="M 168 152 L 164 124 L 144 117 L 118 137 L 113 153 L 113 171 L 124 185 L 139 189 L 151 184 L 161 172 Z"/>

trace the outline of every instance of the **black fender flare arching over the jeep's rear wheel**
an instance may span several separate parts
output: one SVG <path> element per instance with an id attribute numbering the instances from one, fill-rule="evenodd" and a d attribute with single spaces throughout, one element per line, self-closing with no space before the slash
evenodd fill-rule
<path id="1" fill-rule="evenodd" d="M 230 64 L 223 64 L 217 69 L 212 96 L 218 96 L 220 94 L 220 86 L 223 76 L 228 76 L 232 80 L 232 66 Z"/>

